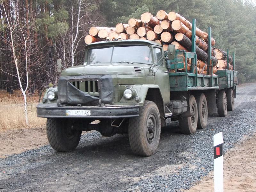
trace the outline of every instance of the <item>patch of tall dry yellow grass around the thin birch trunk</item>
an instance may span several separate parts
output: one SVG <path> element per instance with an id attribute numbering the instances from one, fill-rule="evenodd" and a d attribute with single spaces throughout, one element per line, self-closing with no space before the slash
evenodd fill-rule
<path id="1" fill-rule="evenodd" d="M 0 91 L 0 132 L 44 126 L 46 119 L 36 116 L 38 96 L 28 97 L 28 120 L 25 122 L 24 100 L 21 92 L 15 91 L 13 95 Z"/>

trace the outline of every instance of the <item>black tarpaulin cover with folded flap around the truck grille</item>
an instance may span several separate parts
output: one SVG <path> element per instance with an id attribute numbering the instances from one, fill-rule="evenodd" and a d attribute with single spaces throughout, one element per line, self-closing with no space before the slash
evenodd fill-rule
<path id="1" fill-rule="evenodd" d="M 77 89 L 70 83 L 73 81 L 98 81 L 100 98 Z M 99 99 L 101 99 L 101 103 L 112 104 L 113 92 L 111 75 L 61 76 L 58 82 L 58 98 L 61 104 L 98 105 Z"/>

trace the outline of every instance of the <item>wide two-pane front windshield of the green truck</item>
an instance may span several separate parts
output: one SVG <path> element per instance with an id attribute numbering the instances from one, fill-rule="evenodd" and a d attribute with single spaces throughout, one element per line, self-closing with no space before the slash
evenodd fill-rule
<path id="1" fill-rule="evenodd" d="M 150 48 L 146 45 L 123 45 L 91 48 L 87 50 L 86 64 L 144 63 L 152 64 Z"/>

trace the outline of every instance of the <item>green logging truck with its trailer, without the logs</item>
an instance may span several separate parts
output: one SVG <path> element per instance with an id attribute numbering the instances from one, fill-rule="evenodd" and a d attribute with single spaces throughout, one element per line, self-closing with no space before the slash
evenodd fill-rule
<path id="1" fill-rule="evenodd" d="M 97 130 L 105 137 L 128 133 L 132 151 L 150 156 L 167 118 L 178 120 L 180 131 L 191 134 L 206 128 L 208 114 L 227 116 L 238 84 L 235 55 L 233 70 L 212 73 L 209 28 L 207 75 L 198 74 L 195 29 L 193 20 L 191 52 L 175 50 L 174 45 L 164 52 L 162 45 L 148 40 L 87 45 L 84 65 L 63 70 L 58 87 L 45 90 L 39 100 L 37 116 L 47 118 L 52 148 L 70 151 L 82 131 Z M 179 72 L 184 57 L 191 59 L 192 67 L 187 69 L 185 59 L 185 71 Z"/>

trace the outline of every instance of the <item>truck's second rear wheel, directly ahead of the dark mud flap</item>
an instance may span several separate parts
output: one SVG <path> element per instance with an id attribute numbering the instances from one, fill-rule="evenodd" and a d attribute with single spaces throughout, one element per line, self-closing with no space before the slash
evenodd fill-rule
<path id="1" fill-rule="evenodd" d="M 196 104 L 198 111 L 197 128 L 204 129 L 207 126 L 208 120 L 207 100 L 204 93 L 201 93 L 196 97 Z"/>

